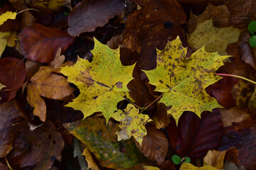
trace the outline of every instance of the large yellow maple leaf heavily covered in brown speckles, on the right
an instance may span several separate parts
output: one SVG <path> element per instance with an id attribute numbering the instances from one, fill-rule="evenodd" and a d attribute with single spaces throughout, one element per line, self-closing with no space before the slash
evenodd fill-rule
<path id="1" fill-rule="evenodd" d="M 172 106 L 168 113 L 176 122 L 183 111 L 193 111 L 199 117 L 203 111 L 211 111 L 221 106 L 206 94 L 205 88 L 221 79 L 215 70 L 223 65 L 223 60 L 230 56 L 220 56 L 217 52 L 208 53 L 201 47 L 191 57 L 186 57 L 187 48 L 181 40 L 168 42 L 164 50 L 157 50 L 157 67 L 144 71 L 149 84 L 156 86 L 156 91 L 164 93 L 160 103 Z"/>

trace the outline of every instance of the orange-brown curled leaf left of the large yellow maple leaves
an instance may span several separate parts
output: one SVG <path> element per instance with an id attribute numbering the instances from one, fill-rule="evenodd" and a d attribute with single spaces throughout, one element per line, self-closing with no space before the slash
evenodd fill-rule
<path id="1" fill-rule="evenodd" d="M 41 67 L 31 78 L 31 82 L 27 86 L 28 103 L 34 108 L 33 114 L 38 115 L 43 122 L 46 121 L 46 103 L 41 96 L 62 100 L 74 91 L 69 86 L 67 79 L 54 74 L 54 72 L 59 72 L 59 70 L 50 67 Z"/>

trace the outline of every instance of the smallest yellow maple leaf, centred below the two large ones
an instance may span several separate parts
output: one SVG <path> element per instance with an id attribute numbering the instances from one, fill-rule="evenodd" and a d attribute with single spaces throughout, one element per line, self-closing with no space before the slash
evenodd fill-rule
<path id="1" fill-rule="evenodd" d="M 146 135 L 146 123 L 152 121 L 149 115 L 139 114 L 139 109 L 129 104 L 123 111 L 117 111 L 112 116 L 115 120 L 120 122 L 120 131 L 116 132 L 117 140 L 128 140 L 134 136 L 134 139 L 142 146 L 142 140 Z"/>

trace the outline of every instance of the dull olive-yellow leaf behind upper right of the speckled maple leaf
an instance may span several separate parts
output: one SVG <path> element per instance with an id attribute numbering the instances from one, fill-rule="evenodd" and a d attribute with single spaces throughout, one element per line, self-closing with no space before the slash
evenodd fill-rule
<path id="1" fill-rule="evenodd" d="M 188 44 L 196 50 L 205 45 L 206 52 L 227 55 L 225 52 L 227 46 L 238 41 L 241 31 L 232 27 L 215 28 L 213 20 L 210 19 L 198 23 L 193 33 L 188 35 Z"/>

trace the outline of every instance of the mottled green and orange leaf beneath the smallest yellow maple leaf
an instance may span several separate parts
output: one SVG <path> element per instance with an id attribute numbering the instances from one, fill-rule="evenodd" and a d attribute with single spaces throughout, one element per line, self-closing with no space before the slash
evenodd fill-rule
<path id="1" fill-rule="evenodd" d="M 132 139 L 117 141 L 118 123 L 112 120 L 106 126 L 103 118 L 85 118 L 81 121 L 66 123 L 68 129 L 92 152 L 102 166 L 112 169 L 129 169 L 146 159 Z"/>

